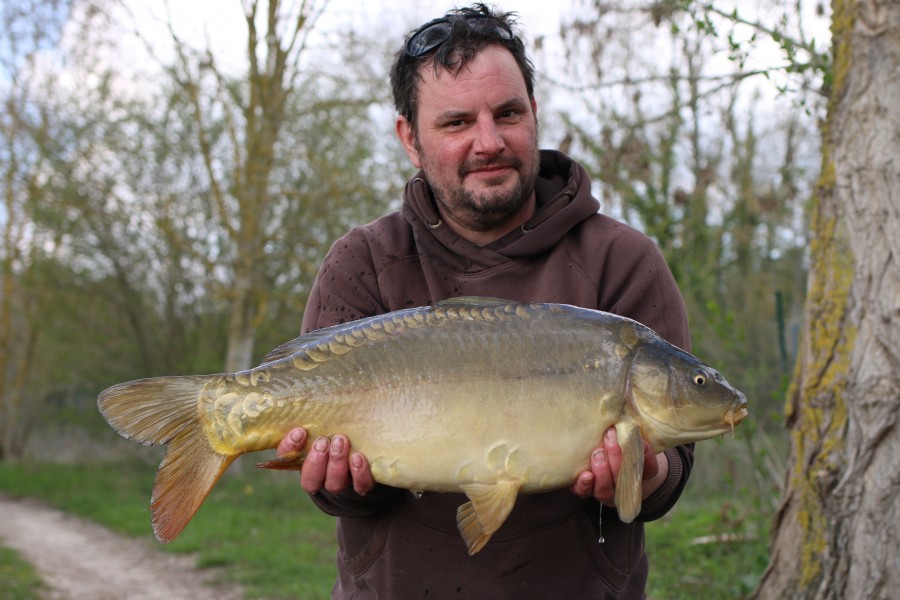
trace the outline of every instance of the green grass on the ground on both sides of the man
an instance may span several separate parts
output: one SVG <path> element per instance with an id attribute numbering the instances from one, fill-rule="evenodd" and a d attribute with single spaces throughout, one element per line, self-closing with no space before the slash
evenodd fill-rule
<path id="1" fill-rule="evenodd" d="M 0 491 L 42 498 L 127 535 L 151 537 L 147 506 L 156 465 L 146 460 L 151 449 L 138 449 L 144 460 L 0 464 Z M 198 566 L 215 567 L 219 579 L 244 586 L 247 598 L 329 598 L 334 520 L 312 505 L 295 474 L 249 463 L 229 471 L 184 532 L 161 548 L 194 554 Z M 754 495 L 727 477 L 718 477 L 715 487 L 702 479 L 692 479 L 675 510 L 646 527 L 650 600 L 735 600 L 754 589 L 766 566 L 773 509 L 755 506 Z M 732 537 L 715 537 L 723 535 Z M 17 598 L 3 593 L 0 600 Z"/>

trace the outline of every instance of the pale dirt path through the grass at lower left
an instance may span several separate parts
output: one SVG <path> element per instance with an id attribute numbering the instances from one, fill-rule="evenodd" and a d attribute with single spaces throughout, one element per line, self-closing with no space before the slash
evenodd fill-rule
<path id="1" fill-rule="evenodd" d="M 0 494 L 0 544 L 33 564 L 52 600 L 239 600 L 236 587 L 213 587 L 212 573 L 186 556 L 110 530 L 34 500 Z"/>

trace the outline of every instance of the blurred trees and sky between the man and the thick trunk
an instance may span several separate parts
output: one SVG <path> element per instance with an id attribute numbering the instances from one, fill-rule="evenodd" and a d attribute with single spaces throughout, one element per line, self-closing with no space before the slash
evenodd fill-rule
<path id="1" fill-rule="evenodd" d="M 578 6 L 560 31 L 565 67 L 545 69 L 570 94 L 561 143 L 586 164 L 603 210 L 659 243 L 687 302 L 694 352 L 750 399 L 744 451 L 724 462 L 736 491 L 771 511 L 787 454 L 782 412 L 828 56 L 806 31 L 803 3 Z M 710 453 L 703 464 L 723 462 L 714 445 L 698 452 Z"/>

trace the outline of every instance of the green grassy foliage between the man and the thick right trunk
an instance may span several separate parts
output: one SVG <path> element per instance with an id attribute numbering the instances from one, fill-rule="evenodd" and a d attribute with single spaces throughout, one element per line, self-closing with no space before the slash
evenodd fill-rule
<path id="1" fill-rule="evenodd" d="M 697 444 L 678 504 L 646 525 L 650 600 L 735 600 L 756 588 L 789 444 L 770 423 L 751 414 L 733 439 Z"/>

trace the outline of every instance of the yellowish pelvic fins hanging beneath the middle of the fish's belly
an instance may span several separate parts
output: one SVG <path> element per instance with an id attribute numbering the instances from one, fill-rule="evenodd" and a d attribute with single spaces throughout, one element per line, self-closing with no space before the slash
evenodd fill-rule
<path id="1" fill-rule="evenodd" d="M 457 509 L 456 525 L 469 548 L 469 556 L 484 548 L 506 521 L 516 503 L 519 485 L 517 481 L 501 481 L 463 486 L 469 502 Z"/>

